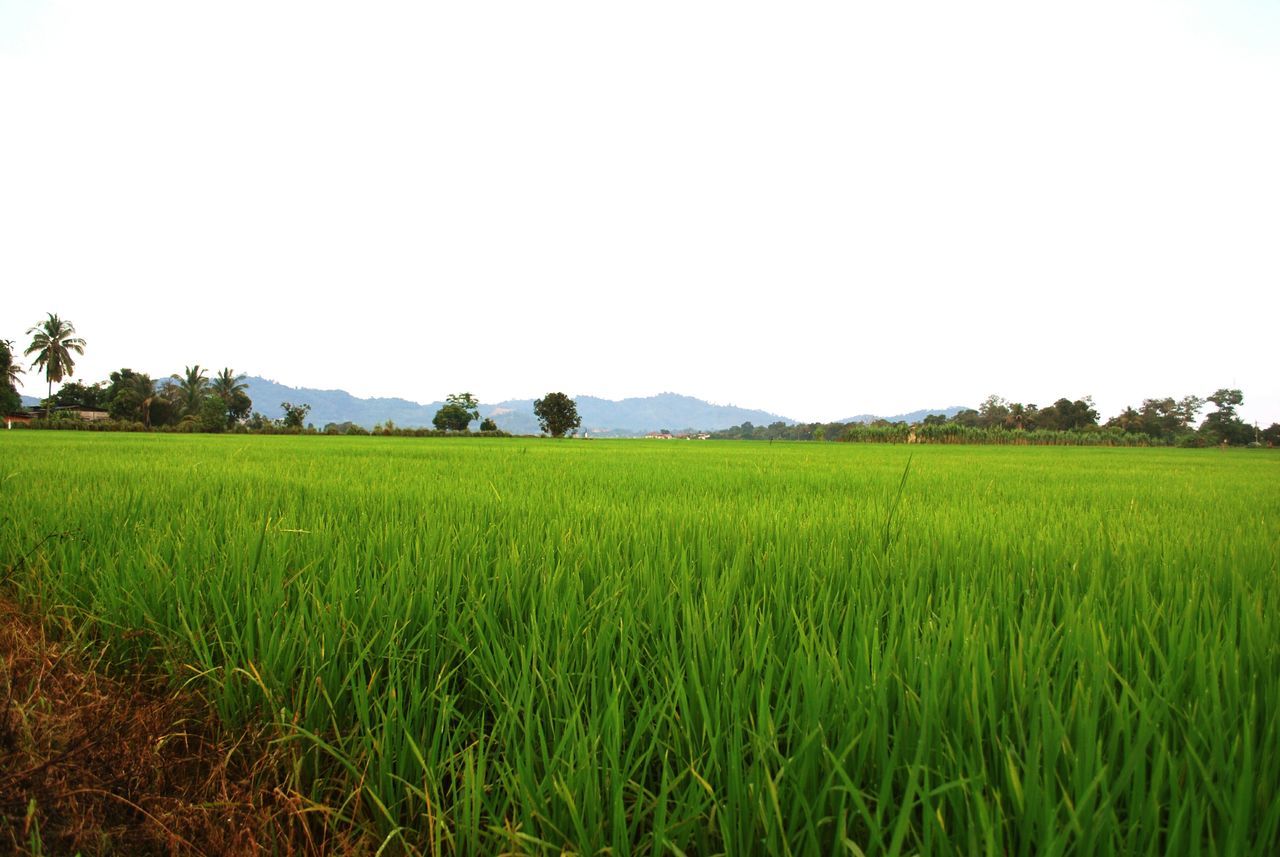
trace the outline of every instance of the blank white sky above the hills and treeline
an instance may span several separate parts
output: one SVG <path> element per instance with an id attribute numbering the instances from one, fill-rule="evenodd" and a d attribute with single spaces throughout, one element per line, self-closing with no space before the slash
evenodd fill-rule
<path id="1" fill-rule="evenodd" d="M 1266 426 L 1277 287 L 1271 0 L 0 0 L 0 338 L 88 381 Z"/>

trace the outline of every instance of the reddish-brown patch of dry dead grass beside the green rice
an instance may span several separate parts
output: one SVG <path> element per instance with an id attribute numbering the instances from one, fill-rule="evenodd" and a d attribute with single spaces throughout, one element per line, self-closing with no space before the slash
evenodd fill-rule
<path id="1" fill-rule="evenodd" d="M 0 853 L 349 853 L 262 735 L 122 679 L 0 596 Z M 284 775 L 282 775 L 284 774 Z"/>

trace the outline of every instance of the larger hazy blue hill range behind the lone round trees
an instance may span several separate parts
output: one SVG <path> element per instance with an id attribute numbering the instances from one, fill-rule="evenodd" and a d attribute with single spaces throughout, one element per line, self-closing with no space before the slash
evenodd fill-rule
<path id="1" fill-rule="evenodd" d="M 371 428 L 375 423 L 388 420 L 404 427 L 430 426 L 435 412 L 444 404 L 443 402 L 419 403 L 396 398 L 361 399 L 346 390 L 285 386 L 257 376 L 247 377 L 246 384 L 248 385 L 248 395 L 253 399 L 255 411 L 271 418 L 279 418 L 283 416 L 282 402 L 310 404 L 311 412 L 307 414 L 307 422 L 316 426 L 324 426 L 326 422 L 355 422 Z M 593 436 L 630 437 L 662 428 L 716 431 L 748 421 L 756 425 L 768 425 L 780 420 L 794 422 L 767 411 L 710 404 L 676 393 L 660 393 L 617 402 L 580 395 L 575 400 L 577 402 L 577 413 L 582 417 L 582 431 Z M 503 431 L 516 435 L 539 434 L 532 399 L 508 399 L 495 404 L 481 404 L 480 416 L 490 417 Z"/>

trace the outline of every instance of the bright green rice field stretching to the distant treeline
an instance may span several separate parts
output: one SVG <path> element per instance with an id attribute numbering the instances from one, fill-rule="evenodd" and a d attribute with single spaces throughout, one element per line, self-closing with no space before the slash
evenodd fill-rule
<path id="1" fill-rule="evenodd" d="M 392 852 L 1280 848 L 1274 453 L 14 431 L 0 485 L 12 591 Z"/>

